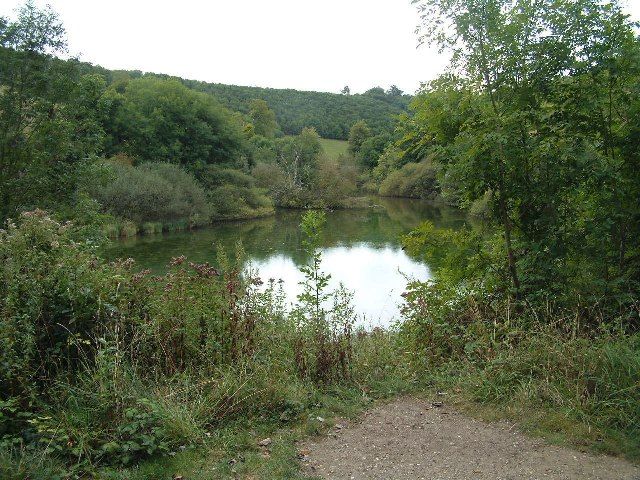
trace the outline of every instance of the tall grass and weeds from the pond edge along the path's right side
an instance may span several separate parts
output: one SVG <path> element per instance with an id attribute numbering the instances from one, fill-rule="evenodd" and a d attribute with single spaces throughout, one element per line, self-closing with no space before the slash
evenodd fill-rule
<path id="1" fill-rule="evenodd" d="M 640 458 L 640 334 L 444 283 L 411 285 L 405 315 L 400 341 L 416 371 L 519 412 L 548 438 Z"/>

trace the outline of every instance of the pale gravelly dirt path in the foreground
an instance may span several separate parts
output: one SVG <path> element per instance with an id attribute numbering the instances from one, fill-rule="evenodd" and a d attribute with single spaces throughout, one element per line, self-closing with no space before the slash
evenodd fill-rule
<path id="1" fill-rule="evenodd" d="M 311 476 L 323 479 L 640 480 L 624 460 L 588 455 L 403 398 L 369 411 L 360 423 L 336 425 L 302 446 Z"/>

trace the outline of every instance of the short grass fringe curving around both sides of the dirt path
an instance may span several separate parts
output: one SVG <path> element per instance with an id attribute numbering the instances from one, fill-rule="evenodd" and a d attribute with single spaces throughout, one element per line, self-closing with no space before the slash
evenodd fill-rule
<path id="1" fill-rule="evenodd" d="M 462 366 L 451 365 L 455 371 L 460 371 Z M 390 398 L 406 393 L 429 398 L 435 391 L 446 391 L 447 401 L 471 417 L 488 422 L 508 420 L 522 432 L 541 437 L 554 445 L 584 452 L 623 455 L 637 461 L 632 452 L 621 448 L 629 445 L 628 439 L 616 438 L 612 432 L 580 422 L 562 409 L 525 404 L 521 399 L 507 403 L 480 403 L 472 394 L 469 382 L 474 379 L 467 377 L 468 373 L 458 377 L 446 367 L 439 372 L 425 373 L 420 385 L 413 387 L 398 385 L 390 376 L 383 381 L 384 385 L 379 385 L 378 393 L 371 397 L 357 388 L 338 387 L 321 395 L 312 409 L 293 422 L 270 417 L 240 419 L 219 429 L 215 438 L 203 447 L 147 461 L 134 468 L 104 471 L 99 478 L 143 480 L 183 476 L 190 480 L 303 480 L 309 477 L 300 470 L 298 451 L 301 440 L 324 435 L 338 419 L 357 418 L 365 410 Z M 477 372 L 471 377 L 475 375 Z M 266 449 L 259 447 L 258 442 L 267 437 L 272 439 L 272 444 Z"/>

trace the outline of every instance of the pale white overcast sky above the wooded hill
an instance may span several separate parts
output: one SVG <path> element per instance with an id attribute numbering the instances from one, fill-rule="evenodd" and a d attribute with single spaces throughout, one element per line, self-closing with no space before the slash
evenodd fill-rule
<path id="1" fill-rule="evenodd" d="M 22 4 L 1 0 L 0 15 Z M 447 59 L 417 47 L 410 0 L 48 0 L 70 53 L 110 69 L 207 82 L 413 93 Z M 627 0 L 640 20 L 640 0 Z"/>

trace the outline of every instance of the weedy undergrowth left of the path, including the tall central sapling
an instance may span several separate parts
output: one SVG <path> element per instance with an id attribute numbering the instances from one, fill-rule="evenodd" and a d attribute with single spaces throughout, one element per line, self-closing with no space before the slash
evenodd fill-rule
<path id="1" fill-rule="evenodd" d="M 354 331 L 346 290 L 325 291 L 321 223 L 306 218 L 307 283 L 291 312 L 277 284 L 242 271 L 241 252 L 217 268 L 175 258 L 155 276 L 105 263 L 86 232 L 42 211 L 9 223 L 2 478 L 100 475 L 206 445 L 241 419 L 299 421 L 335 388 L 376 391 L 400 365 L 387 334 Z"/>

